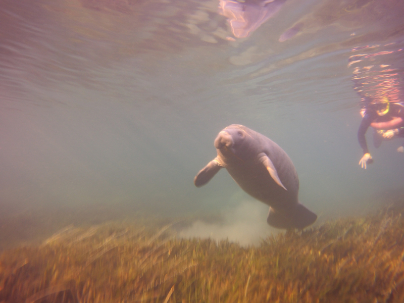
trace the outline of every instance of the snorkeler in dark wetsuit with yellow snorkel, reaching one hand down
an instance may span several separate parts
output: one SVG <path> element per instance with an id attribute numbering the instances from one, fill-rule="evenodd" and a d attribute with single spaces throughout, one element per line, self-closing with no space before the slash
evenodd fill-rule
<path id="1" fill-rule="evenodd" d="M 369 126 L 377 130 L 377 133 L 385 139 L 391 139 L 395 135 L 404 137 L 404 106 L 384 98 L 382 102 L 368 103 L 361 110 L 361 115 L 363 119 L 358 130 L 358 141 L 364 155 L 359 161 L 359 165 L 366 169 L 366 165 L 373 162 L 365 138 Z M 404 147 L 400 146 L 397 151 L 404 152 Z"/>

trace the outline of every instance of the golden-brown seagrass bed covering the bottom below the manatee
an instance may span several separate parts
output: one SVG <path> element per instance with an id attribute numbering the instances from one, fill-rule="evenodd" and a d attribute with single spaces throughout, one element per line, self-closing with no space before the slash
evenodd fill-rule
<path id="1" fill-rule="evenodd" d="M 175 224 L 68 226 L 0 256 L 0 302 L 402 302 L 397 209 L 258 246 L 179 239 Z"/>

